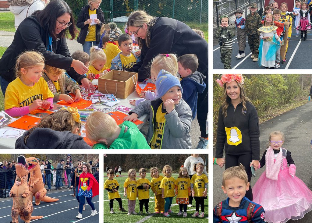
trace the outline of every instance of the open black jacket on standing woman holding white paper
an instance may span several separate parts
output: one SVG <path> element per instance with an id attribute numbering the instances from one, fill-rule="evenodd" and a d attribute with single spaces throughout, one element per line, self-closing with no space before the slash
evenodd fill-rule
<path id="1" fill-rule="evenodd" d="M 96 10 L 96 18 L 100 20 L 100 24 L 96 24 L 95 25 L 95 40 L 96 40 L 96 44 L 100 43 L 100 30 L 101 27 L 103 26 L 103 24 L 105 24 L 105 19 L 104 19 L 104 13 L 102 11 L 102 9 L 98 8 L 95 9 Z M 89 28 L 89 24 L 85 25 L 85 21 L 87 19 L 90 19 L 90 15 L 89 15 L 89 5 L 86 5 L 85 7 L 81 8 L 81 11 L 78 15 L 78 19 L 77 19 L 77 24 L 76 26 L 78 28 L 80 28 L 80 33 L 79 36 L 77 38 L 77 42 L 84 44 L 85 43 L 85 37 L 87 36 L 87 32 L 88 32 L 88 28 Z"/>

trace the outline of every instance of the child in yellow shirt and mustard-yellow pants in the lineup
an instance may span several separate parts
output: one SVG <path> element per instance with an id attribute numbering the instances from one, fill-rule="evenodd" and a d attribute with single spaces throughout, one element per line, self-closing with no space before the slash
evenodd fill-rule
<path id="1" fill-rule="evenodd" d="M 157 167 L 152 167 L 151 172 L 151 189 L 155 194 L 155 214 L 163 214 L 165 200 L 162 198 L 161 188 L 159 188 L 163 176 L 159 175 Z"/>

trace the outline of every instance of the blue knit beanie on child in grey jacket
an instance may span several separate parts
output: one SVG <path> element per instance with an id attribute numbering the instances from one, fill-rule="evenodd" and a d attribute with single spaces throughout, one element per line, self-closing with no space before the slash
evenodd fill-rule
<path id="1" fill-rule="evenodd" d="M 166 70 L 159 71 L 155 85 L 158 93 L 158 98 L 161 98 L 164 94 L 167 93 L 170 88 L 174 86 L 180 87 L 181 93 L 183 93 L 183 89 L 178 78 L 173 76 Z"/>

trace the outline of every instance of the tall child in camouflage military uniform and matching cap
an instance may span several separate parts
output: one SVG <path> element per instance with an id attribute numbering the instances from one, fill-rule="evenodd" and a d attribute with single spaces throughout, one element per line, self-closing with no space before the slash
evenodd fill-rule
<path id="1" fill-rule="evenodd" d="M 261 16 L 256 12 L 257 3 L 251 3 L 249 9 L 251 13 L 246 16 L 245 32 L 248 37 L 248 44 L 251 51 L 250 58 L 253 59 L 252 61 L 258 61 L 260 45 L 258 29 L 262 27 Z"/>

